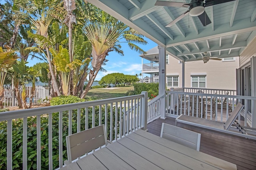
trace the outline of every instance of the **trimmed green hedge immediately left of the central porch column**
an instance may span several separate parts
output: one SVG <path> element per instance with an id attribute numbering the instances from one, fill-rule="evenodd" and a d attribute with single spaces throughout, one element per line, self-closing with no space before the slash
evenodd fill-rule
<path id="1" fill-rule="evenodd" d="M 148 98 L 152 98 L 152 96 L 158 95 L 158 83 L 135 83 L 134 86 L 134 94 L 141 94 L 142 91 L 148 92 Z"/>

